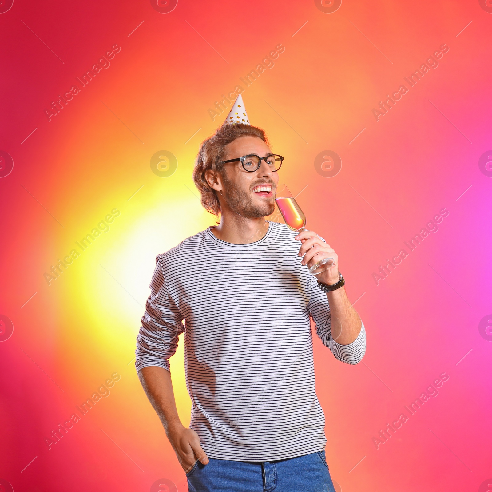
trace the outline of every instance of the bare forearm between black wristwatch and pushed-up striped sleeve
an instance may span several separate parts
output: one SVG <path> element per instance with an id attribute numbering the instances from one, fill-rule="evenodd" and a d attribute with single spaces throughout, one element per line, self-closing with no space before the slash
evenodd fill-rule
<path id="1" fill-rule="evenodd" d="M 345 287 L 327 292 L 326 295 L 330 303 L 332 338 L 340 345 L 348 345 L 361 331 L 361 318 L 348 300 Z"/>

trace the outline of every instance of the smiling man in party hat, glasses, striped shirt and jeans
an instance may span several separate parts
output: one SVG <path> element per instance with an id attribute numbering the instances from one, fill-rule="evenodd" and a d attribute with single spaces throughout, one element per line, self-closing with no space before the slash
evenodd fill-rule
<path id="1" fill-rule="evenodd" d="M 366 334 L 333 248 L 312 231 L 265 221 L 282 160 L 263 130 L 249 125 L 238 96 L 193 171 L 203 206 L 220 222 L 156 258 L 136 368 L 190 492 L 335 490 L 309 317 L 348 364 L 364 356 Z M 328 270 L 308 273 L 328 257 L 335 260 Z M 178 417 L 168 363 L 183 332 L 189 429 Z"/>

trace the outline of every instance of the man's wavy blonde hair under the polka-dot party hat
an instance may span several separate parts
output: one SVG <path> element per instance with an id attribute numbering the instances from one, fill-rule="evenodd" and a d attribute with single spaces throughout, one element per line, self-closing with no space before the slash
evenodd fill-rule
<path id="1" fill-rule="evenodd" d="M 210 169 L 220 173 L 223 168 L 221 161 L 225 155 L 225 146 L 237 138 L 245 136 L 261 138 L 263 142 L 269 145 L 265 132 L 257 126 L 250 126 L 243 123 L 223 124 L 217 128 L 214 135 L 202 142 L 196 156 L 193 181 L 198 191 L 200 191 L 203 207 L 216 217 L 220 214 L 220 203 L 215 190 L 205 179 L 205 173 Z"/>

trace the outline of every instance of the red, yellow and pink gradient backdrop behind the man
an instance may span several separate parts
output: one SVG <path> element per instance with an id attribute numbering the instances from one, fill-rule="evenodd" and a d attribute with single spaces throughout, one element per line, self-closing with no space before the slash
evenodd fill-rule
<path id="1" fill-rule="evenodd" d="M 13 323 L 0 335 L 0 479 L 14 491 L 187 490 L 138 381 L 135 338 L 155 255 L 215 223 L 191 180 L 228 111 L 213 121 L 209 109 L 279 43 L 275 66 L 241 84 L 249 120 L 285 156 L 280 179 L 338 252 L 368 333 L 353 367 L 314 342 L 337 490 L 478 491 L 492 477 L 492 169 L 479 167 L 492 149 L 492 8 L 323 5 L 162 0 L 175 8 L 161 13 L 149 1 L 14 0 L 0 14 L 0 150 L 14 162 L 0 179 L 0 314 Z M 379 101 L 443 43 L 439 66 L 376 121 Z M 51 101 L 114 44 L 111 65 L 48 121 Z M 169 177 L 151 169 L 162 150 L 177 158 Z M 314 165 L 327 150 L 342 161 L 334 177 Z M 110 230 L 48 285 L 43 275 L 115 207 Z M 377 284 L 379 266 L 443 208 L 439 230 Z M 49 450 L 114 372 L 111 394 Z M 442 372 L 439 395 L 376 449 Z M 187 425 L 182 343 L 172 377 Z"/>

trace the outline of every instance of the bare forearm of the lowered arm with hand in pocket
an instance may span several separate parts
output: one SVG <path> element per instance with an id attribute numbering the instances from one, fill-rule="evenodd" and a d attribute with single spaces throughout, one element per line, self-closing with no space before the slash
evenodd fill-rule
<path id="1" fill-rule="evenodd" d="M 174 400 L 171 374 L 164 368 L 150 366 L 140 369 L 138 377 L 169 437 L 170 431 L 183 427 Z"/>

